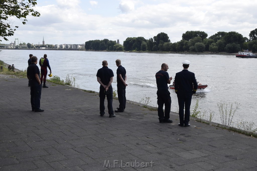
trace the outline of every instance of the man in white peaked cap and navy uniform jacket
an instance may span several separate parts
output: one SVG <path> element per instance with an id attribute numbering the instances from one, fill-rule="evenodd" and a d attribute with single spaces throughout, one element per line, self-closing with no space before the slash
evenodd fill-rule
<path id="1" fill-rule="evenodd" d="M 190 61 L 185 60 L 182 62 L 183 70 L 176 73 L 175 76 L 175 93 L 178 97 L 179 105 L 179 126 L 190 126 L 189 116 L 190 116 L 190 105 L 192 95 L 196 93 L 197 82 L 195 79 L 195 73 L 188 71 Z M 184 107 L 185 107 L 185 118 L 184 118 Z"/>

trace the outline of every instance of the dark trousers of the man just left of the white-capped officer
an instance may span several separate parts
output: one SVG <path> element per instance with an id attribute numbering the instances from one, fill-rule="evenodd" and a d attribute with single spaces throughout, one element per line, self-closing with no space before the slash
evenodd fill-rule
<path id="1" fill-rule="evenodd" d="M 171 97 L 169 90 L 157 90 L 157 104 L 158 104 L 158 116 L 159 120 L 168 120 L 170 118 L 170 107 L 171 107 Z M 165 109 L 163 112 L 163 105 Z"/>

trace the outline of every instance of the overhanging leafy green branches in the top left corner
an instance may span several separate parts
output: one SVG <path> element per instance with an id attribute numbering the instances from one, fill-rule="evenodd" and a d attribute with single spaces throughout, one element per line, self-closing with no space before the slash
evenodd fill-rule
<path id="1" fill-rule="evenodd" d="M 8 36 L 13 36 L 18 26 L 13 26 L 12 17 L 22 20 L 26 24 L 26 17 L 32 15 L 39 17 L 40 13 L 32 9 L 36 5 L 36 0 L 1 0 L 0 1 L 0 37 L 8 41 Z M 13 29 L 15 27 L 15 29 Z M 0 42 L 2 40 L 0 39 Z"/>

